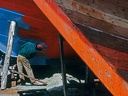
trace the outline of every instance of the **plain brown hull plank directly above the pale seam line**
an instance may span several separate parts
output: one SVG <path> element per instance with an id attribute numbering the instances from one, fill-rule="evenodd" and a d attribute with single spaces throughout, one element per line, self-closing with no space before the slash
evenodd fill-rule
<path id="1" fill-rule="evenodd" d="M 128 34 L 127 34 L 128 29 L 126 28 L 115 26 L 113 24 L 98 20 L 90 16 L 80 14 L 78 12 L 74 12 L 72 10 L 67 10 L 64 8 L 62 9 L 67 14 L 67 16 L 76 24 L 81 24 L 83 26 L 90 26 L 92 28 L 96 28 L 103 32 L 108 32 L 111 34 L 115 34 L 117 36 L 128 38 Z"/>

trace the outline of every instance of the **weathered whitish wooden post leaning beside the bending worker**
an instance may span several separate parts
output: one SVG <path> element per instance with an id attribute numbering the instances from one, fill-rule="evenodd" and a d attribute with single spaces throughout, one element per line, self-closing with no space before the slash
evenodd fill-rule
<path id="1" fill-rule="evenodd" d="M 13 44 L 13 36 L 14 36 L 15 26 L 16 26 L 16 22 L 11 21 L 9 34 L 8 34 L 7 50 L 6 50 L 3 72 L 2 72 L 2 80 L 1 80 L 1 89 L 2 90 L 6 88 L 6 84 L 7 84 L 7 74 L 8 74 L 10 56 L 11 56 L 11 52 L 12 52 L 12 44 Z"/>

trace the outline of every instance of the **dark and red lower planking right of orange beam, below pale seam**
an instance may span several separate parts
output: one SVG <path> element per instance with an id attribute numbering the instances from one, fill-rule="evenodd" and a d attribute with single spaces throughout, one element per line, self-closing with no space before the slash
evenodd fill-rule
<path id="1" fill-rule="evenodd" d="M 128 40 L 77 25 L 114 69 L 128 70 Z M 109 38 L 109 39 L 108 39 Z"/>

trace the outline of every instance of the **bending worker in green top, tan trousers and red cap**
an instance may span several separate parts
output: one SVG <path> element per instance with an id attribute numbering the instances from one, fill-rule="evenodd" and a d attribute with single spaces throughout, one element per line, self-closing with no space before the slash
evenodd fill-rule
<path id="1" fill-rule="evenodd" d="M 23 69 L 25 69 L 28 76 L 35 78 L 33 74 L 33 70 L 30 66 L 29 59 L 33 58 L 38 51 L 41 51 L 43 46 L 41 44 L 33 44 L 31 42 L 27 42 L 21 46 L 18 57 L 17 57 L 17 68 L 20 73 L 23 73 Z M 19 80 L 17 83 L 21 85 L 25 85 L 25 78 L 23 75 L 19 75 Z M 31 84 L 36 85 L 38 82 L 30 79 Z"/>

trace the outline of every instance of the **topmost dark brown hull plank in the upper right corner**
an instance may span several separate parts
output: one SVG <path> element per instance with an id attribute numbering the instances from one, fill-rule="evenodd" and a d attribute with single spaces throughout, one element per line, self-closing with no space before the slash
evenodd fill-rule
<path id="1" fill-rule="evenodd" d="M 74 1 L 96 8 L 108 14 L 112 14 L 115 16 L 119 16 L 121 18 L 128 19 L 128 15 L 126 15 L 128 13 L 128 8 L 126 8 L 125 6 L 121 6 L 121 4 L 118 5 L 115 4 L 113 0 L 110 1 L 109 0 L 74 0 Z M 115 1 L 119 1 L 119 0 L 115 0 Z M 122 0 L 119 2 L 122 2 Z"/>

